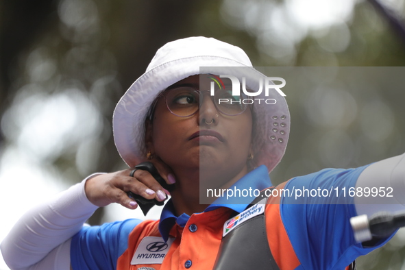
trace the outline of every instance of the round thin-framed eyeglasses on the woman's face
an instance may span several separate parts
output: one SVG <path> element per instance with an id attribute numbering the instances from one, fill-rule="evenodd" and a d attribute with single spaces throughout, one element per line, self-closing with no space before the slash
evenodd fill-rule
<path id="1" fill-rule="evenodd" d="M 209 93 L 210 91 L 207 90 L 207 92 Z M 204 101 L 204 93 L 195 88 L 189 86 L 172 88 L 158 95 L 151 106 L 150 116 L 153 114 L 159 97 L 164 97 L 167 109 L 179 117 L 192 116 L 199 110 Z M 243 99 L 247 97 L 244 93 L 241 93 L 240 96 L 234 96 L 232 95 L 232 90 L 217 89 L 214 90 L 214 96 L 209 97 L 211 97 L 215 108 L 228 116 L 242 114 L 247 108 L 247 104 L 243 103 Z"/>

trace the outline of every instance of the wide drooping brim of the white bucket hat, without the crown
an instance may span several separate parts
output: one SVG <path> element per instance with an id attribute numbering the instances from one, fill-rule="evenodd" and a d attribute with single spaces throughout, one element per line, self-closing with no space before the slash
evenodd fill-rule
<path id="1" fill-rule="evenodd" d="M 212 73 L 232 67 L 249 69 L 237 74 L 246 77 L 251 88 L 258 85 L 258 77 L 265 77 L 251 66 L 218 56 L 195 56 L 165 62 L 140 76 L 117 103 L 113 115 L 114 143 L 121 158 L 129 167 L 145 161 L 145 119 L 149 107 L 160 92 L 191 75 Z M 221 68 L 219 68 L 221 67 Z M 228 70 L 228 69 L 227 69 Z M 222 73 L 223 74 L 223 73 Z M 275 92 L 275 91 L 274 91 Z M 263 94 L 264 95 L 264 91 Z M 262 96 L 256 98 L 263 98 Z M 254 104 L 254 164 L 265 164 L 269 171 L 280 162 L 286 150 L 290 130 L 290 114 L 284 97 L 271 93 L 275 104 Z M 282 126 L 280 126 L 282 125 Z M 280 133 L 281 132 L 281 133 Z"/>

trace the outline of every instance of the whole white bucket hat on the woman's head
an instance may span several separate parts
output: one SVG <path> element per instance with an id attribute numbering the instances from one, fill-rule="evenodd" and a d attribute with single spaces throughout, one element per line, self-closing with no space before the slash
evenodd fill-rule
<path id="1" fill-rule="evenodd" d="M 218 67 L 226 66 L 250 67 L 249 73 L 254 73 L 254 76 L 244 77 L 251 89 L 258 86 L 258 76 L 265 76 L 251 68 L 249 57 L 241 48 L 214 38 L 184 38 L 158 49 L 146 72 L 130 86 L 114 110 L 114 142 L 125 163 L 134 167 L 146 160 L 145 119 L 160 92 L 186 77 L 200 74 L 201 70 L 219 75 Z M 277 102 L 253 106 L 254 166 L 265 164 L 270 172 L 284 156 L 290 132 L 290 114 L 284 97 L 275 90 L 270 91 L 269 97 L 264 97 L 264 92 L 262 98 L 274 98 Z"/>

